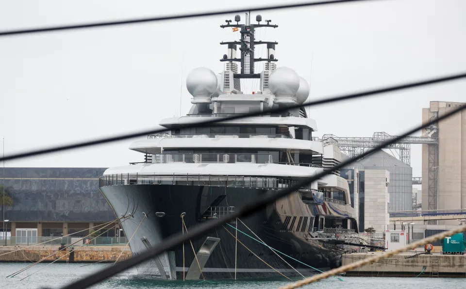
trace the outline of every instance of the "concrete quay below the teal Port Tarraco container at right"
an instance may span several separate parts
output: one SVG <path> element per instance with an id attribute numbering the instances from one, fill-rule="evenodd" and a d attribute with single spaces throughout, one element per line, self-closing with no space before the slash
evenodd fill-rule
<path id="1" fill-rule="evenodd" d="M 423 251 L 410 251 L 365 265 L 346 273 L 347 276 L 375 277 L 466 277 L 466 255 L 439 253 L 415 256 Z M 384 252 L 350 253 L 342 255 L 342 265 L 374 257 Z M 421 274 L 422 272 L 422 274 Z"/>

